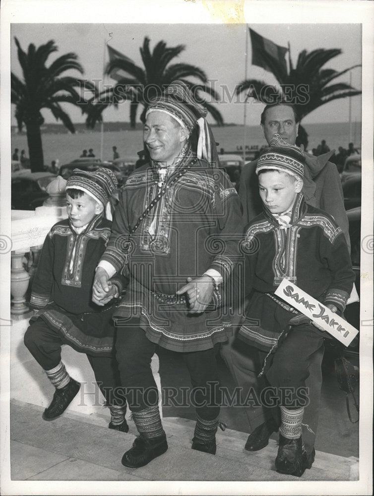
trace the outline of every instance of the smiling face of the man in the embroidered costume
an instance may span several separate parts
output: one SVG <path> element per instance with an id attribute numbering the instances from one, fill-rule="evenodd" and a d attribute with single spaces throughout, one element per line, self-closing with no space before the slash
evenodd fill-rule
<path id="1" fill-rule="evenodd" d="M 187 140 L 187 129 L 164 112 L 151 112 L 144 124 L 143 140 L 152 160 L 171 165 Z"/>

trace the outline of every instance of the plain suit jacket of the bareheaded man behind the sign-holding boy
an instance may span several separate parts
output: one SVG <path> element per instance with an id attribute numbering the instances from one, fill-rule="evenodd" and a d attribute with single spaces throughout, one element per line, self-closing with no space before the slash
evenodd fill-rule
<path id="1" fill-rule="evenodd" d="M 303 194 L 305 201 L 313 207 L 330 214 L 343 231 L 350 250 L 348 217 L 344 208 L 343 189 L 335 164 L 328 162 L 334 153 L 331 152 L 314 157 L 305 155 L 306 167 Z M 262 201 L 258 192 L 258 178 L 255 173 L 257 160 L 246 164 L 242 170 L 239 196 L 243 206 L 245 222 L 250 222 L 262 212 Z"/>

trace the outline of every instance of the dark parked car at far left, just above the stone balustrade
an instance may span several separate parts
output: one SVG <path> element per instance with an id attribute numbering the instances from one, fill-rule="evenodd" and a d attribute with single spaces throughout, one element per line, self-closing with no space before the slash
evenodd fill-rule
<path id="1" fill-rule="evenodd" d="M 46 187 L 56 178 L 51 172 L 31 172 L 29 169 L 12 174 L 11 208 L 35 210 L 48 198 Z"/>

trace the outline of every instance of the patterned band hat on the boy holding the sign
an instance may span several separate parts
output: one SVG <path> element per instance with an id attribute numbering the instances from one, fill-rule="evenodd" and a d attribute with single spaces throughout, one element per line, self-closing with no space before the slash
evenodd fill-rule
<path id="1" fill-rule="evenodd" d="M 275 169 L 303 180 L 305 167 L 303 150 L 284 141 L 280 134 L 274 134 L 269 145 L 257 160 L 256 174 L 264 169 Z"/>

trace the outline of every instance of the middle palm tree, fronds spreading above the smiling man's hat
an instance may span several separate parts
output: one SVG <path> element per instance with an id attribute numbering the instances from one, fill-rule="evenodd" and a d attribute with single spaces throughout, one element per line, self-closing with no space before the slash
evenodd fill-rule
<path id="1" fill-rule="evenodd" d="M 213 105 L 208 103 L 201 94 L 207 93 L 214 100 L 218 99 L 215 90 L 207 84 L 208 80 L 205 72 L 199 67 L 187 63 L 179 62 L 170 64 L 175 57 L 178 57 L 186 49 L 185 45 L 167 47 L 164 41 L 159 41 L 151 53 L 149 42 L 149 38 L 145 37 L 143 46 L 140 47 L 140 55 L 144 68 L 125 58 L 117 58 L 108 63 L 106 74 L 110 75 L 114 70 L 122 70 L 128 76 L 123 77 L 111 88 L 104 90 L 97 99 L 92 99 L 92 107 L 86 121 L 87 125 L 94 127 L 97 121 L 102 120 L 104 109 L 110 105 L 114 105 L 117 108 L 118 104 L 124 100 L 130 101 L 131 127 L 135 127 L 136 113 L 139 105 L 143 106 L 140 120 L 144 123 L 149 101 L 160 94 L 165 86 L 168 86 L 176 79 L 184 81 L 199 104 L 206 108 L 218 124 L 223 124 L 221 113 Z M 194 77 L 201 81 L 201 83 L 196 84 L 186 79 L 189 77 Z"/>

